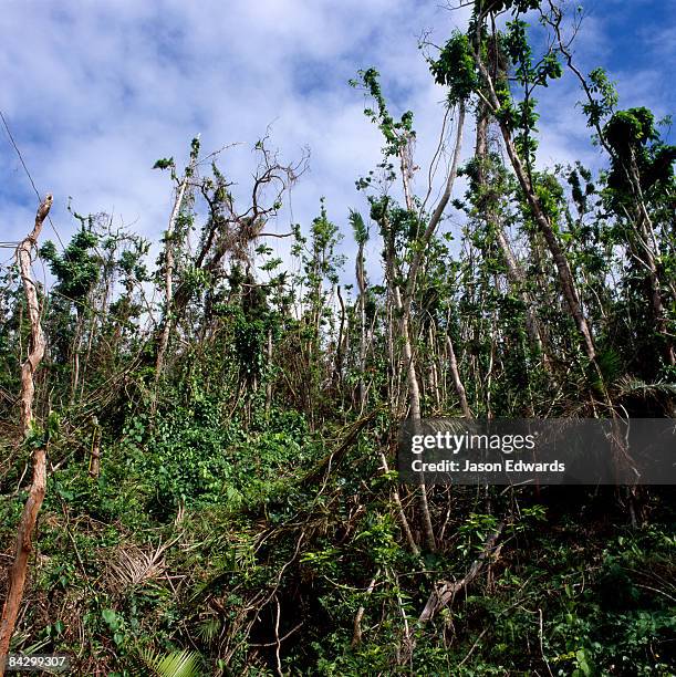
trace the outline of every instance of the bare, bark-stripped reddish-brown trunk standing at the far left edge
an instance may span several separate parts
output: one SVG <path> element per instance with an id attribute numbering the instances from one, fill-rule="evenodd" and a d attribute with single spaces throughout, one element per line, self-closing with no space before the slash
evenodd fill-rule
<path id="1" fill-rule="evenodd" d="M 23 281 L 23 291 L 31 323 L 31 340 L 29 355 L 21 367 L 21 424 L 24 435 L 33 421 L 33 398 L 35 394 L 34 375 L 44 356 L 45 340 L 40 324 L 40 303 L 35 282 L 31 277 L 31 252 L 38 243 L 42 225 L 52 206 L 52 196 L 48 195 L 35 215 L 35 225 L 31 233 L 24 238 L 17 248 L 17 261 Z M 38 513 L 42 507 L 46 486 L 46 450 L 44 448 L 33 451 L 33 480 L 28 501 L 23 508 L 19 528 L 17 530 L 17 548 L 14 562 L 9 574 L 9 590 L 2 607 L 0 621 L 0 677 L 4 675 L 4 657 L 9 653 L 10 640 L 17 624 L 19 607 L 23 600 L 23 589 L 28 572 L 28 559 L 33 550 L 32 539 L 38 521 Z"/>

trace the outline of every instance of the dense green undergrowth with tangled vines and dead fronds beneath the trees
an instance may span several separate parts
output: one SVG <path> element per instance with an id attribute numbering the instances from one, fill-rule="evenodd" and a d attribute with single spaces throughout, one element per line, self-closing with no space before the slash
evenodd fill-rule
<path id="1" fill-rule="evenodd" d="M 668 491 L 651 492 L 646 525 L 631 529 L 612 488 L 435 490 L 439 550 L 415 556 L 401 546 L 394 478 L 375 454 L 392 425 L 385 414 L 357 421 L 350 450 L 326 465 L 354 424 L 323 438 L 302 415 L 270 412 L 245 434 L 223 427 L 218 404 L 194 404 L 160 413 L 153 430 L 133 418 L 104 444 L 96 479 L 77 454 L 51 473 L 22 650 L 64 652 L 79 674 L 122 675 L 141 669 L 144 648 L 188 647 L 199 674 L 264 675 L 279 639 L 283 671 L 391 674 L 402 623 L 415 623 L 434 581 L 465 575 L 505 515 L 485 576 L 420 633 L 401 671 L 673 668 Z M 56 445 L 52 462 L 71 449 Z M 7 541 L 23 500 L 2 503 Z"/>

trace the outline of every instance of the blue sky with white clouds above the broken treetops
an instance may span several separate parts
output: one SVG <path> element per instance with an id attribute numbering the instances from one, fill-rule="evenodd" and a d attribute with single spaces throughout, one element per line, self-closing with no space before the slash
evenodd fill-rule
<path id="1" fill-rule="evenodd" d="M 374 66 L 393 112 L 414 112 L 423 168 L 416 180 L 424 192 L 444 91 L 431 81 L 418 39 L 427 34 L 443 44 L 454 28 L 464 28 L 468 10 L 451 11 L 454 4 L 0 0 L 0 110 L 38 190 L 54 195 L 51 217 L 63 242 L 77 227 L 70 204 L 80 213 L 113 215 L 115 225 L 139 232 L 156 250 L 173 196 L 155 160 L 173 156 L 181 166 L 198 133 L 205 153 L 237 144 L 219 165 L 243 195 L 254 169 L 252 147 L 268 129 L 282 159 L 298 160 L 308 148 L 310 164 L 266 230 L 308 227 L 325 197 L 329 217 L 347 235 L 350 208 L 366 211 L 354 181 L 379 162 L 382 146 L 363 115 L 363 93 L 347 81 Z M 676 0 L 582 4 L 585 19 L 574 44 L 581 69 L 606 67 L 621 107 L 674 112 Z M 575 107 L 580 97 L 569 75 L 541 96 L 541 165 L 576 158 L 603 164 Z M 470 146 L 468 138 L 465 156 Z M 37 201 L 0 127 L 0 241 L 30 230 Z M 43 238 L 56 239 L 51 226 Z M 271 244 L 284 247 L 281 240 Z M 342 247 L 350 258 L 349 237 Z M 10 250 L 0 250 L 0 263 L 10 259 Z"/>

